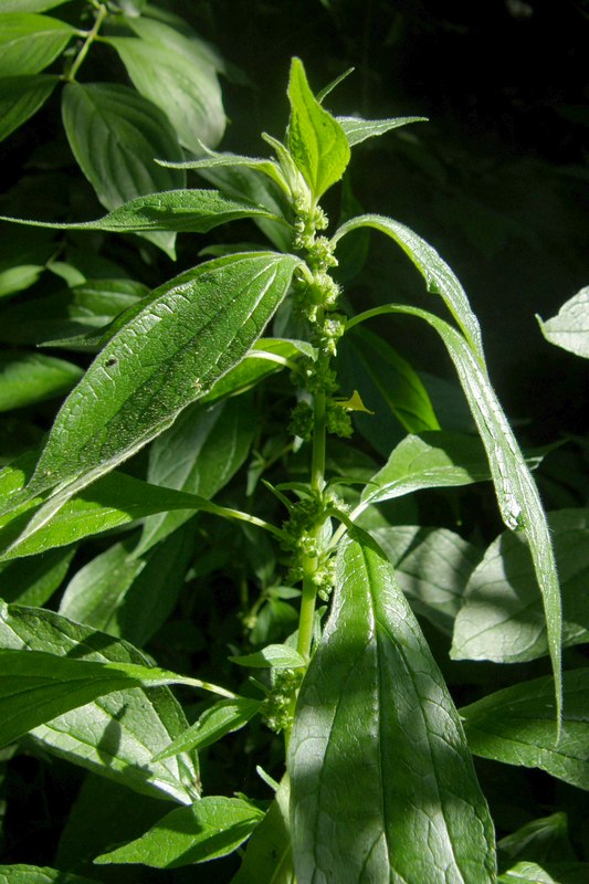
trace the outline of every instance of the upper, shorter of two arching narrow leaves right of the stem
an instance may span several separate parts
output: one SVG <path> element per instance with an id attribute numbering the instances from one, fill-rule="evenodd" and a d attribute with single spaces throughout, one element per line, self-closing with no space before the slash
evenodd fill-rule
<path id="1" fill-rule="evenodd" d="M 335 245 L 341 236 L 353 230 L 362 228 L 379 230 L 395 240 L 403 250 L 425 280 L 428 292 L 440 295 L 443 298 L 448 309 L 464 333 L 481 367 L 484 368 L 485 357 L 478 320 L 471 309 L 464 288 L 435 249 L 412 230 L 404 227 L 404 224 L 380 214 L 362 214 L 350 219 L 339 228 L 332 243 Z"/>

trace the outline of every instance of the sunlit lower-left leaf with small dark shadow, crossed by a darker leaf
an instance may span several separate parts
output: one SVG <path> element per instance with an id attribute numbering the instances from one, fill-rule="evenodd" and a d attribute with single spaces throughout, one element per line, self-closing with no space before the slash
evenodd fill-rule
<path id="1" fill-rule="evenodd" d="M 19 606 L 0 607 L 0 646 L 51 651 L 96 663 L 149 665 L 147 657 L 126 642 L 52 611 Z M 133 688 L 61 715 L 36 727 L 29 738 L 43 750 L 136 792 L 190 804 L 198 798 L 196 757 L 182 753 L 166 761 L 152 760 L 187 727 L 169 688 Z"/>

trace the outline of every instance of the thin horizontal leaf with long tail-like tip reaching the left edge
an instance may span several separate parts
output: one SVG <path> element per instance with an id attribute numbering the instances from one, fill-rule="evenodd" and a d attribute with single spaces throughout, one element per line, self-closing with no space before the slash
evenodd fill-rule
<path id="1" fill-rule="evenodd" d="M 137 197 L 96 221 L 51 223 L 0 215 L 1 221 L 59 230 L 106 230 L 112 233 L 144 233 L 173 230 L 177 233 L 206 233 L 219 224 L 241 218 L 273 218 L 267 209 L 223 197 L 218 190 L 168 190 Z"/>

